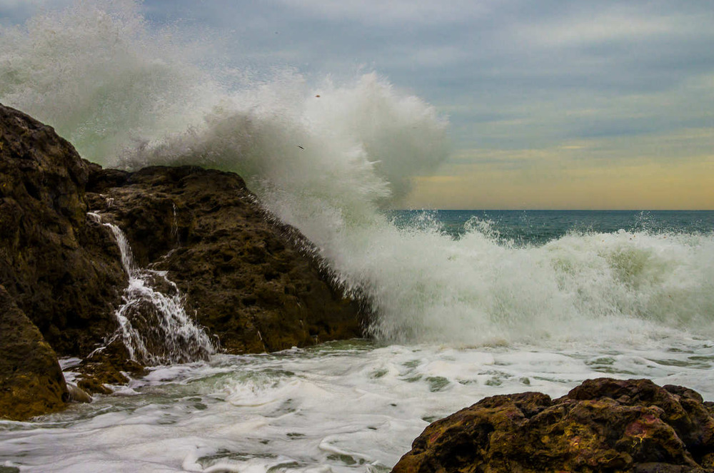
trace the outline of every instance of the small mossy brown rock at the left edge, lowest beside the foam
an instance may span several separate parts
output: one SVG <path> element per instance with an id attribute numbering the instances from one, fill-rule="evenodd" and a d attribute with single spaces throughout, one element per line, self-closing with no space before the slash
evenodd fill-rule
<path id="1" fill-rule="evenodd" d="M 0 418 L 25 420 L 65 407 L 54 350 L 0 285 Z"/>

